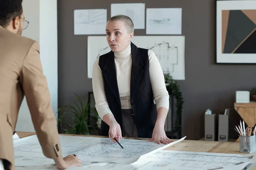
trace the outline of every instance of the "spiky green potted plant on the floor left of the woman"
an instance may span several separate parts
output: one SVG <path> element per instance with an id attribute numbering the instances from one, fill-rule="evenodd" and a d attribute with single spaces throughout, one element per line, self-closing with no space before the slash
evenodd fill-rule
<path id="1" fill-rule="evenodd" d="M 99 127 L 98 125 L 89 125 L 89 122 L 92 120 L 98 121 L 99 114 L 97 113 L 95 108 L 91 108 L 91 112 L 95 114 L 94 116 L 90 116 L 90 120 L 88 120 L 88 108 L 90 103 L 87 102 L 86 105 L 83 104 L 81 98 L 76 94 L 79 103 L 74 102 L 73 105 L 65 105 L 58 109 L 58 112 L 62 113 L 58 118 L 58 123 L 60 125 L 62 133 L 67 134 L 82 134 L 82 135 L 90 135 L 90 129 L 93 129 L 98 134 Z M 73 125 L 64 121 L 65 118 L 70 118 L 73 121 Z M 69 121 L 70 122 L 70 121 Z M 69 129 L 63 127 L 63 123 L 66 124 Z"/>

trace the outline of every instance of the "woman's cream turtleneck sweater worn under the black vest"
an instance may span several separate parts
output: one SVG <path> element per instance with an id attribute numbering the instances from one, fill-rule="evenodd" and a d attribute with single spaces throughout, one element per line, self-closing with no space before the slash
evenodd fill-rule
<path id="1" fill-rule="evenodd" d="M 122 109 L 130 109 L 130 84 L 131 84 L 131 43 L 121 52 L 114 52 L 116 79 L 121 100 Z M 169 110 L 169 94 L 166 90 L 161 65 L 153 51 L 148 50 L 149 76 L 157 109 L 164 107 Z M 99 58 L 93 64 L 93 94 L 96 102 L 96 110 L 101 119 L 105 114 L 113 114 L 108 106 L 104 92 L 102 71 L 99 67 Z"/>

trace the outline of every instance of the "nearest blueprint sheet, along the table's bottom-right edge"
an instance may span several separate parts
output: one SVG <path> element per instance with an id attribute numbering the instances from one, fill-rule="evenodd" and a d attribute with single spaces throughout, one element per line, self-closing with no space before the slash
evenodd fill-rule
<path id="1" fill-rule="evenodd" d="M 161 150 L 133 164 L 108 163 L 88 165 L 93 170 L 242 170 L 256 161 L 256 154 L 247 155 Z"/>

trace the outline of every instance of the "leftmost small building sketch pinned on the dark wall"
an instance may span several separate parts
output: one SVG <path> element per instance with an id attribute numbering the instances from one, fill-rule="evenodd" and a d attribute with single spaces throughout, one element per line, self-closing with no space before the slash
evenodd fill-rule
<path id="1" fill-rule="evenodd" d="M 105 34 L 107 9 L 74 10 L 74 34 Z"/>

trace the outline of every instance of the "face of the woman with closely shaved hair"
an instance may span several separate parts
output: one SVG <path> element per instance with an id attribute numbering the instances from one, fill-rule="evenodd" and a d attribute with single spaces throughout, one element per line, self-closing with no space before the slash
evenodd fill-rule
<path id="1" fill-rule="evenodd" d="M 123 21 L 108 21 L 106 26 L 106 34 L 108 45 L 113 52 L 123 51 L 134 33 L 127 31 L 126 25 Z"/>

